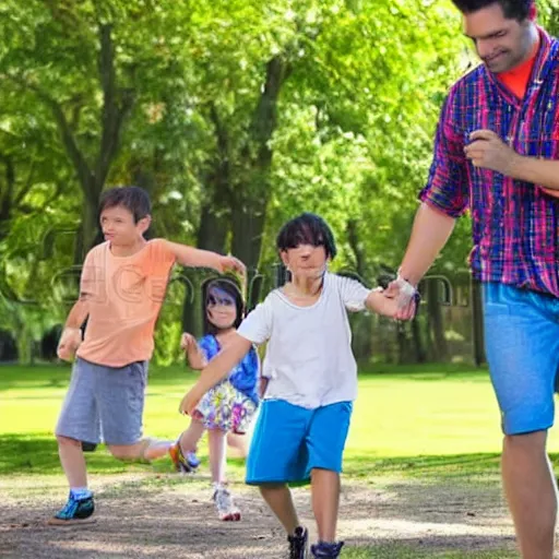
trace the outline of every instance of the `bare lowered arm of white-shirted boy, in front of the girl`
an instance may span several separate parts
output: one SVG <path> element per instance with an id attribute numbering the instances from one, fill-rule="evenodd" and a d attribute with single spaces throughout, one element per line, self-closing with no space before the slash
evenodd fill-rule
<path id="1" fill-rule="evenodd" d="M 221 380 L 245 357 L 252 347 L 252 342 L 235 334 L 234 340 L 227 344 L 203 369 L 198 382 L 182 399 L 179 412 L 181 414 L 191 414 L 197 407 L 200 399 Z"/>

